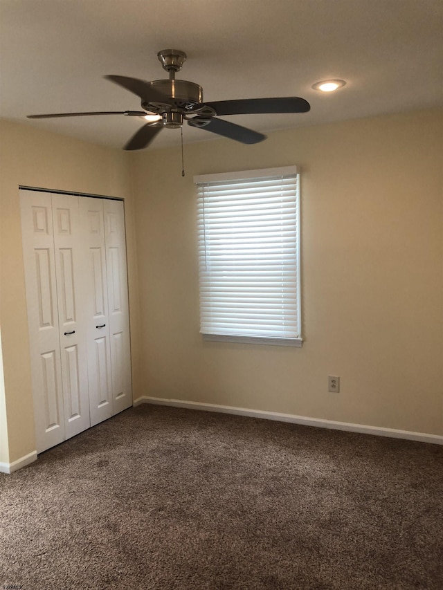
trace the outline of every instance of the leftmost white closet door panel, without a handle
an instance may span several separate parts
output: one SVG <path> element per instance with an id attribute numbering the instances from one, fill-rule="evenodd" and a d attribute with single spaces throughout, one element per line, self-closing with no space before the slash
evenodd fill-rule
<path id="1" fill-rule="evenodd" d="M 51 194 L 20 190 L 37 452 L 64 441 Z"/>

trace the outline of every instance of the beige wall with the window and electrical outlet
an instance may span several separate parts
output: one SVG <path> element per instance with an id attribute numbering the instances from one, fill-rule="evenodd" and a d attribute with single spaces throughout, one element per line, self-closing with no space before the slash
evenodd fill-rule
<path id="1" fill-rule="evenodd" d="M 442 435 L 442 140 L 435 110 L 186 145 L 185 178 L 134 154 L 144 395 Z M 192 176 L 293 164 L 303 347 L 202 342 Z"/>

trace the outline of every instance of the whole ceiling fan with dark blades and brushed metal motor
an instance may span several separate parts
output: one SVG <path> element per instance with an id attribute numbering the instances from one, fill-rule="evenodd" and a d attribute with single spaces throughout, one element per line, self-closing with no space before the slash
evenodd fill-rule
<path id="1" fill-rule="evenodd" d="M 246 115 L 256 113 L 306 113 L 311 108 L 303 98 L 249 98 L 203 102 L 203 89 L 199 84 L 176 80 L 175 73 L 181 70 L 186 53 L 177 49 L 165 49 L 157 54 L 163 69 L 169 72 L 169 80 L 145 82 L 127 76 L 107 75 L 110 80 L 123 86 L 141 98 L 143 111 L 98 111 L 92 113 L 51 113 L 28 115 L 28 119 L 56 117 L 83 117 L 91 115 L 124 115 L 126 117 L 153 118 L 127 142 L 124 149 L 134 150 L 147 147 L 164 127 L 176 129 L 183 126 L 183 120 L 192 127 L 206 129 L 245 144 L 258 143 L 264 139 L 262 133 L 219 119 L 221 115 Z"/>

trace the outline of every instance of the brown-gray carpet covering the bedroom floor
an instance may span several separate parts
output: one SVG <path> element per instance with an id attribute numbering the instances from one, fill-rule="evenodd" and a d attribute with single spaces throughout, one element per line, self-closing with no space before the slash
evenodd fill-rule
<path id="1" fill-rule="evenodd" d="M 2 588 L 443 588 L 437 445 L 142 405 L 0 490 Z"/>

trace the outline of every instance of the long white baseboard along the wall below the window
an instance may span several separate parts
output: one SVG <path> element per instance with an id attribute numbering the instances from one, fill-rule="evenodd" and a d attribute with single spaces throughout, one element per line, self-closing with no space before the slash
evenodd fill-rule
<path id="1" fill-rule="evenodd" d="M 345 432 L 359 432 L 361 434 L 374 434 L 375 436 L 389 436 L 392 439 L 406 439 L 409 441 L 419 441 L 422 443 L 443 445 L 443 436 L 440 436 L 439 434 L 426 434 L 423 432 L 410 432 L 409 430 L 395 430 L 393 428 L 381 428 L 379 426 L 366 426 L 363 424 L 321 420 L 320 418 L 307 418 L 305 416 L 280 414 L 278 412 L 263 412 L 260 409 L 248 409 L 244 407 L 233 407 L 228 405 L 198 403 L 172 399 L 168 400 L 164 398 L 152 398 L 147 396 L 134 400 L 134 406 L 141 403 L 185 407 L 188 409 L 200 409 L 206 412 L 221 412 L 222 414 L 237 414 L 239 416 L 250 416 L 251 418 L 263 418 L 264 420 L 291 422 L 305 426 L 316 426 L 318 428 L 344 430 Z"/>

